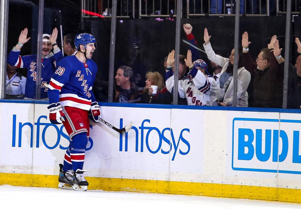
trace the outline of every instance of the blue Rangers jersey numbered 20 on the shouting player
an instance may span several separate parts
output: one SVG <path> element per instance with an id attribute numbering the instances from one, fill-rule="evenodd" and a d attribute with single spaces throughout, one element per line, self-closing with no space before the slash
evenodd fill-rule
<path id="1" fill-rule="evenodd" d="M 96 63 L 90 59 L 82 63 L 76 56 L 67 56 L 57 65 L 48 86 L 49 104 L 60 102 L 61 106 L 90 110 L 91 102 L 96 101 L 92 92 Z"/>

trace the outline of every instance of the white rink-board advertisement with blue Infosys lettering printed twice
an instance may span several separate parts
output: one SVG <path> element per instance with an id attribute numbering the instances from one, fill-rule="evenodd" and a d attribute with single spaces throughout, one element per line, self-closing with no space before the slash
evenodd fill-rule
<path id="1" fill-rule="evenodd" d="M 7 114 L 1 118 L 2 170 L 9 172 L 4 168 L 12 165 L 30 173 L 25 170 L 41 166 L 48 168 L 46 174 L 56 174 L 51 168 L 62 163 L 69 137 L 63 125 L 50 123 L 47 105 L 2 103 L 1 109 Z M 85 169 L 203 172 L 203 131 L 199 124 L 203 110 L 196 111 L 193 118 L 187 117 L 189 110 L 102 107 L 101 111 L 103 119 L 117 128 L 130 121 L 133 126 L 119 134 L 103 124 L 92 124 Z M 39 173 L 44 174 L 42 169 L 36 170 Z"/>

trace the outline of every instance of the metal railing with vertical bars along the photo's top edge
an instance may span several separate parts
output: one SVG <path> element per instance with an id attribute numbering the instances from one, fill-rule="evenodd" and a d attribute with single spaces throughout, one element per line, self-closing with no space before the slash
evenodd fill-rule
<path id="1" fill-rule="evenodd" d="M 235 16 L 235 2 L 240 1 L 240 14 L 269 16 L 286 14 L 288 0 L 186 0 L 181 18 L 203 16 Z M 138 2 L 138 5 L 137 5 Z M 185 9 L 186 8 L 186 9 Z M 118 19 L 176 17 L 177 0 L 117 0 Z M 111 19 L 112 0 L 82 0 L 82 18 Z M 301 12 L 301 0 L 292 0 L 292 15 Z"/>

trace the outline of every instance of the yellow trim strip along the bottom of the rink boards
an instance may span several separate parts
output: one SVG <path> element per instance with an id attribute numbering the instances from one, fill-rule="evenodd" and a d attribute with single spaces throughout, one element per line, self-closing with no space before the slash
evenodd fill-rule
<path id="1" fill-rule="evenodd" d="M 89 189 L 247 198 L 301 203 L 301 190 L 263 186 L 86 177 Z M 0 185 L 57 187 L 57 175 L 0 173 Z"/>

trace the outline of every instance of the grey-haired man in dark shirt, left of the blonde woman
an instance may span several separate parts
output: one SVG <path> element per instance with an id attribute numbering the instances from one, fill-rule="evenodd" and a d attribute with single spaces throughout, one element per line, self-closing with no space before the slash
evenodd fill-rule
<path id="1" fill-rule="evenodd" d="M 133 77 L 133 70 L 127 66 L 118 68 L 115 76 L 115 99 L 114 102 L 132 103 L 140 101 L 140 89 L 135 83 L 130 82 Z"/>

